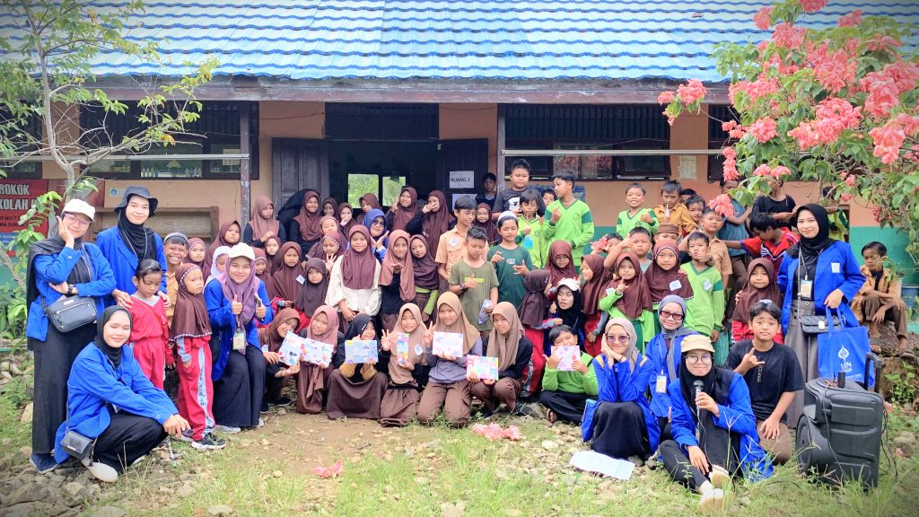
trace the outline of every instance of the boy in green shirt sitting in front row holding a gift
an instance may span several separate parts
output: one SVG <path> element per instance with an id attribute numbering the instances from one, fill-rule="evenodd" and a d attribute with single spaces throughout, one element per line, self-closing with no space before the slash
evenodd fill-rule
<path id="1" fill-rule="evenodd" d="M 559 370 L 562 355 L 555 349 L 577 347 L 577 336 L 572 333 L 571 327 L 560 325 L 550 330 L 549 342 L 553 351 L 550 357 L 543 356 L 546 360 L 546 373 L 542 377 L 539 404 L 548 409 L 547 418 L 550 422 L 562 420 L 580 425 L 587 399 L 595 398 L 600 392 L 596 384 L 596 372 L 591 365 L 594 358 L 581 352 L 581 356 L 571 362 L 570 371 Z"/>

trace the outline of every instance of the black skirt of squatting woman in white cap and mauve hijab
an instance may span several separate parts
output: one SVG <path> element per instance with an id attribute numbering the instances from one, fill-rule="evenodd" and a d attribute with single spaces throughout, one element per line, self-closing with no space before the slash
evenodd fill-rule
<path id="1" fill-rule="evenodd" d="M 245 355 L 230 351 L 220 380 L 214 381 L 214 421 L 228 427 L 255 427 L 265 396 L 265 356 L 249 345 Z"/>

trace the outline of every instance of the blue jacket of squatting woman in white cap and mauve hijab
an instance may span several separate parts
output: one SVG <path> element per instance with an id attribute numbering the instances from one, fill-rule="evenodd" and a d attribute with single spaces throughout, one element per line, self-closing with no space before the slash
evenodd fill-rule
<path id="1" fill-rule="evenodd" d="M 265 318 L 261 319 L 262 323 L 271 323 L 275 313 L 268 304 L 268 293 L 265 291 L 265 282 L 259 281 L 258 297 L 262 299 L 265 305 Z M 204 302 L 208 304 L 208 316 L 210 316 L 210 339 L 216 339 L 220 343 L 220 351 L 213 356 L 214 366 L 210 371 L 210 379 L 219 381 L 223 376 L 223 369 L 226 368 L 227 360 L 230 358 L 230 352 L 233 350 L 233 334 L 236 332 L 236 316 L 231 311 L 230 300 L 223 295 L 221 282 L 211 281 L 204 287 Z M 258 327 L 255 325 L 255 317 L 245 323 L 245 341 L 249 344 L 246 353 L 262 353 L 262 346 L 258 342 Z M 213 349 L 211 349 L 213 350 Z"/>

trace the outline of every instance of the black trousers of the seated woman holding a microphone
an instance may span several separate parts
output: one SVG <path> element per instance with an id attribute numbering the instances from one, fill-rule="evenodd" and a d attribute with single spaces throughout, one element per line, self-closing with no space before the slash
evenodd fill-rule
<path id="1" fill-rule="evenodd" d="M 699 447 L 709 458 L 709 467 L 720 466 L 734 476 L 740 468 L 740 435 L 716 426 L 711 415 L 703 415 L 702 422 Z M 695 490 L 709 480 L 689 463 L 689 456 L 684 454 L 680 444 L 673 440 L 661 443 L 661 458 L 670 477 L 689 488 Z"/>

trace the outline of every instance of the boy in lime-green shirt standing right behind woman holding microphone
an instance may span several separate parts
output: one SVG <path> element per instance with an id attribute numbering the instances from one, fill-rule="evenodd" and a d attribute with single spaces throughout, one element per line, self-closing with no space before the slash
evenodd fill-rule
<path id="1" fill-rule="evenodd" d="M 724 284 L 719 270 L 709 266 L 709 236 L 693 232 L 686 237 L 690 262 L 680 268 L 692 286 L 692 298 L 686 300 L 686 327 L 704 334 L 714 343 L 724 320 Z"/>

